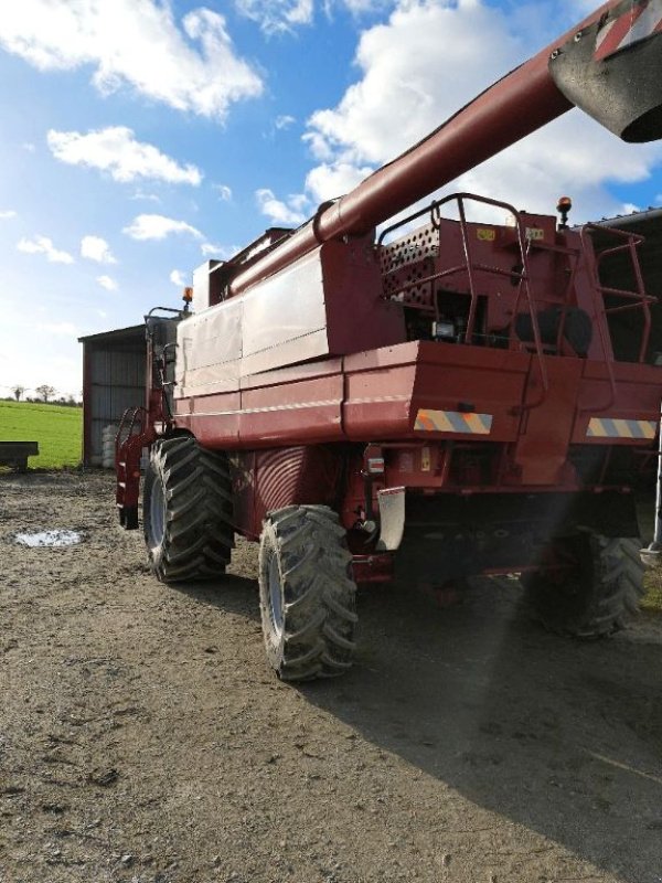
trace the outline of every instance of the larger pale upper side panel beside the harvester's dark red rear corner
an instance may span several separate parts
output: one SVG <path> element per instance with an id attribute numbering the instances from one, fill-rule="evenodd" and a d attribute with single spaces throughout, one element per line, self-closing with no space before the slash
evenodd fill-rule
<path id="1" fill-rule="evenodd" d="M 324 284 L 319 249 L 291 267 L 258 283 L 242 296 L 244 300 L 244 358 L 306 338 L 327 327 Z M 319 334 L 316 334 L 319 339 Z M 291 347 L 287 348 L 291 352 Z M 327 353 L 318 343 L 305 358 Z M 285 355 L 285 353 L 284 353 Z M 291 362 L 274 353 L 271 368 Z M 295 359 L 297 361 L 297 359 Z"/>

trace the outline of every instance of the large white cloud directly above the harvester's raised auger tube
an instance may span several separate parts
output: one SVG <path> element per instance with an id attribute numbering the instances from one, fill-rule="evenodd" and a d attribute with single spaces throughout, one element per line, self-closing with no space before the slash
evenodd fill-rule
<path id="1" fill-rule="evenodd" d="M 509 71 L 522 54 L 504 15 L 481 0 L 402 3 L 387 24 L 362 34 L 355 58 L 362 78 L 338 107 L 312 115 L 316 156 L 342 153 L 346 161 L 381 164 Z"/>

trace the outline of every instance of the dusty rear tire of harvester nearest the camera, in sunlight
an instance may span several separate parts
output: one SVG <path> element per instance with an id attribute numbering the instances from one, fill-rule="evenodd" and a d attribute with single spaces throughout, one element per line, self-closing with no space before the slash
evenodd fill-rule
<path id="1" fill-rule="evenodd" d="M 333 678 L 352 666 L 356 585 L 338 515 L 325 506 L 270 512 L 259 547 L 267 659 L 279 678 Z"/>

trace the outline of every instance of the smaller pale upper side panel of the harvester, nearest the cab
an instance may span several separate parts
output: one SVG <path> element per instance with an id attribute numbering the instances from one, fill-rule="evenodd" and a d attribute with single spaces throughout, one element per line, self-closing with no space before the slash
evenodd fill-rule
<path id="1" fill-rule="evenodd" d="M 243 299 L 232 298 L 180 322 L 177 398 L 238 389 L 243 309 Z"/>

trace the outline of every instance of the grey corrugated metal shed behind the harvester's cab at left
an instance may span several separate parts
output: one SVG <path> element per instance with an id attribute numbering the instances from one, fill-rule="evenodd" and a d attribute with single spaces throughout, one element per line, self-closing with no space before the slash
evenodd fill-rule
<path id="1" fill-rule="evenodd" d="M 100 466 L 102 432 L 118 424 L 127 407 L 145 404 L 146 343 L 142 327 L 125 337 L 109 332 L 83 341 L 84 450 L 83 461 Z"/>

